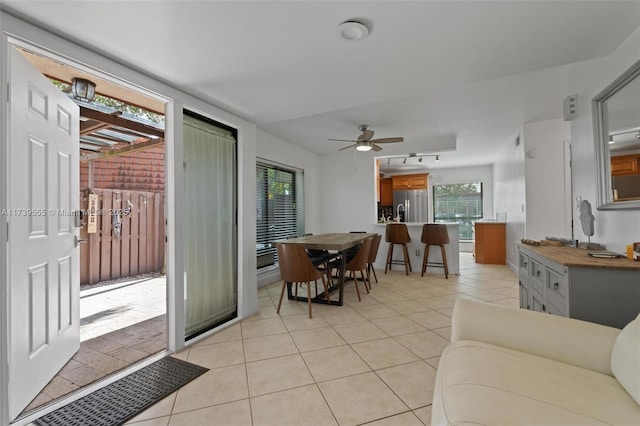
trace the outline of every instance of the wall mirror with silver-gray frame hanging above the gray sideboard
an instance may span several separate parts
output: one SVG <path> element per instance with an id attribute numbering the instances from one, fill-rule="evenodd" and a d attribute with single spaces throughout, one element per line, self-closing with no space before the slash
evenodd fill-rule
<path id="1" fill-rule="evenodd" d="M 592 101 L 599 210 L 640 209 L 640 61 Z"/>

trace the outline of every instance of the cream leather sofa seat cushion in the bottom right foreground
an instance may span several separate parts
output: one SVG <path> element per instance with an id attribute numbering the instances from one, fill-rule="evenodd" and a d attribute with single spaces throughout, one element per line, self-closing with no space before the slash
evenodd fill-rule
<path id="1" fill-rule="evenodd" d="M 434 425 L 637 424 L 640 419 L 640 406 L 614 377 L 469 340 L 443 351 L 435 392 Z"/>

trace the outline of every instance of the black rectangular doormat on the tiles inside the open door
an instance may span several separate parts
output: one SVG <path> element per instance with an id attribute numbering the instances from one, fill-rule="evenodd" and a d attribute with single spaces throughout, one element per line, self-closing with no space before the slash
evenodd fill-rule
<path id="1" fill-rule="evenodd" d="M 40 426 L 116 426 L 135 417 L 208 368 L 165 357 L 35 421 Z"/>

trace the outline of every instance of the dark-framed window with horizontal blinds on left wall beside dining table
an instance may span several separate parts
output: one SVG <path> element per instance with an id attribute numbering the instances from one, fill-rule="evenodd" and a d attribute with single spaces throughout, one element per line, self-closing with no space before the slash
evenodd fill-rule
<path id="1" fill-rule="evenodd" d="M 304 233 L 304 171 L 265 160 L 256 164 L 258 269 L 275 264 L 274 241 Z"/>

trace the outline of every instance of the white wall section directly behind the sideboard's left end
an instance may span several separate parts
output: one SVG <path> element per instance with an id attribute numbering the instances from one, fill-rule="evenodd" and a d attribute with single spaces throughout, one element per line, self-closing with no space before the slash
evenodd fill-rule
<path id="1" fill-rule="evenodd" d="M 541 240 L 554 236 L 571 239 L 571 228 L 567 229 L 566 220 L 571 212 L 565 203 L 566 199 L 570 201 L 571 191 L 565 193 L 564 173 L 564 141 L 570 137 L 569 122 L 563 119 L 523 126 L 526 238 Z"/>

